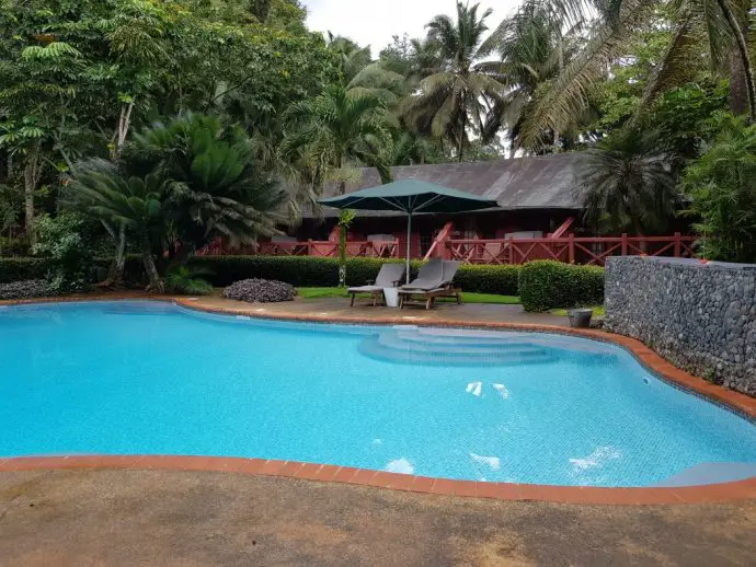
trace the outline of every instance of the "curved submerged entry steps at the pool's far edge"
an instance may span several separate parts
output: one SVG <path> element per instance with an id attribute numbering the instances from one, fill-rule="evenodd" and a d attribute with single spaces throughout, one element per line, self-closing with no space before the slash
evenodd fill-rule
<path id="1" fill-rule="evenodd" d="M 432 329 L 429 329 L 432 331 Z M 512 366 L 549 363 L 553 351 L 502 334 L 449 334 L 425 329 L 392 329 L 366 337 L 359 351 L 389 362 L 438 366 Z"/>

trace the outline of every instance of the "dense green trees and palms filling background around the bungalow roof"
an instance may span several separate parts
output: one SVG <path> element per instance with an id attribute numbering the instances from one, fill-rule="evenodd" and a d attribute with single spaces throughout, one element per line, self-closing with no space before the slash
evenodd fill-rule
<path id="1" fill-rule="evenodd" d="M 297 0 L 2 0 L 0 255 L 53 258 L 64 292 L 121 285 L 138 254 L 150 289 L 179 289 L 197 250 L 275 234 L 359 166 L 585 151 L 597 231 L 684 213 L 702 254 L 755 259 L 748 3 L 496 15 L 429 13 L 374 59 Z"/>

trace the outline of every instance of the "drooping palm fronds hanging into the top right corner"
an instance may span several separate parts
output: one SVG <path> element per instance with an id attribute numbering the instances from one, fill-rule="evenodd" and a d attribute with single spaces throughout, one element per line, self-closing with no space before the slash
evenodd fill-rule
<path id="1" fill-rule="evenodd" d="M 589 13 L 585 2 L 573 0 L 545 0 L 565 14 L 568 22 L 583 22 Z M 633 37 L 635 26 L 655 18 L 658 2 L 655 0 L 621 0 L 620 2 L 592 2 L 599 16 L 594 22 L 585 47 L 564 67 L 534 105 L 523 124 L 523 138 L 536 143 L 547 129 L 563 130 L 587 106 L 587 93 L 598 81 L 606 78 L 611 61 L 623 55 Z M 743 84 L 747 104 L 737 112 L 747 111 L 756 119 L 756 88 L 748 55 L 745 33 L 749 3 L 743 0 L 681 0 L 671 3 L 673 34 L 662 61 L 648 81 L 640 109 L 651 104 L 664 90 L 689 80 L 688 68 L 699 38 L 706 38 L 709 58 L 714 70 L 730 74 L 733 85 L 732 102 L 737 96 L 737 85 Z M 737 65 L 731 66 L 732 54 Z"/>

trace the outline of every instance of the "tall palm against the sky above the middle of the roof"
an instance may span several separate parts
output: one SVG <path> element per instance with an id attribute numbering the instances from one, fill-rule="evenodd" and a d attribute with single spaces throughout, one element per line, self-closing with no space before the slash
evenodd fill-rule
<path id="1" fill-rule="evenodd" d="M 478 66 L 490 53 L 483 35 L 492 13 L 486 10 L 479 18 L 478 8 L 457 2 L 456 22 L 447 15 L 428 22 L 428 42 L 437 49 L 438 59 L 420 82 L 420 93 L 410 96 L 402 108 L 403 119 L 413 130 L 450 140 L 459 161 L 469 143 L 468 129 L 482 131 L 483 116 L 505 92 L 502 83 Z"/>

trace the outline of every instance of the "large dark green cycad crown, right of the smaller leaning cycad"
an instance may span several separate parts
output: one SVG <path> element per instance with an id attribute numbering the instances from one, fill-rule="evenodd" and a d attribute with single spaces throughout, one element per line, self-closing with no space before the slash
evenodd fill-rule
<path id="1" fill-rule="evenodd" d="M 165 216 L 181 242 L 180 261 L 216 238 L 252 244 L 276 231 L 288 195 L 255 166 L 254 146 L 217 117 L 187 115 L 135 135 L 124 152 L 129 171 L 170 183 Z"/>

